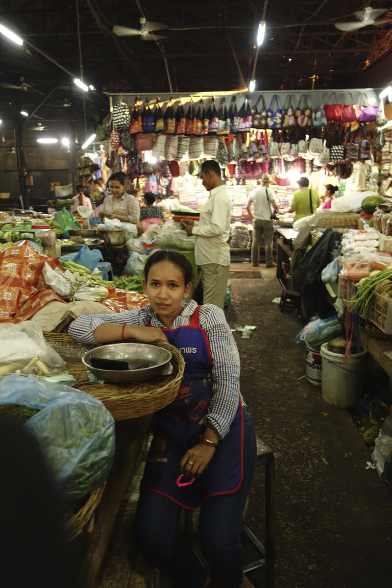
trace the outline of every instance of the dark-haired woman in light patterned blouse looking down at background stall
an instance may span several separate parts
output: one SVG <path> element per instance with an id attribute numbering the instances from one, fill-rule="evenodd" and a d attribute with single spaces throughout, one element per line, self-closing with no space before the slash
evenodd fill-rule
<path id="1" fill-rule="evenodd" d="M 119 219 L 121 222 L 130 222 L 133 225 L 139 220 L 139 201 L 135 196 L 125 192 L 126 175 L 123 172 L 112 173 L 109 178 L 109 191 L 103 201 L 99 218 Z"/>

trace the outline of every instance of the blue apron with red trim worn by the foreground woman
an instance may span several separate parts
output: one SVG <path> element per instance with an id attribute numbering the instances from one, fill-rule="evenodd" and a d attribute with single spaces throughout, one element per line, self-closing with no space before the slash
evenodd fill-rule
<path id="1" fill-rule="evenodd" d="M 180 461 L 205 432 L 203 419 L 212 396 L 212 358 L 206 333 L 200 328 L 199 311 L 197 306 L 190 326 L 162 329 L 170 345 L 184 356 L 185 372 L 176 399 L 158 412 L 157 429 L 140 486 L 187 509 L 199 506 L 210 496 L 236 492 L 243 477 L 243 412 L 239 399 L 230 432 L 219 441 L 202 475 L 189 486 L 176 484 Z M 183 478 L 182 482 L 186 480 Z"/>

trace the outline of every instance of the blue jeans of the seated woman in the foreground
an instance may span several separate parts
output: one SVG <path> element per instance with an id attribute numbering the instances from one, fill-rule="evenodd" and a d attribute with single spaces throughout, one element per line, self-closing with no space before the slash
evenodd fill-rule
<path id="1" fill-rule="evenodd" d="M 243 580 L 240 533 L 256 466 L 256 434 L 246 409 L 243 456 L 243 480 L 237 492 L 208 498 L 200 507 L 200 549 L 227 588 L 239 588 Z M 136 545 L 178 588 L 202 588 L 207 575 L 180 537 L 180 513 L 181 507 L 169 498 L 142 490 L 135 517 Z"/>

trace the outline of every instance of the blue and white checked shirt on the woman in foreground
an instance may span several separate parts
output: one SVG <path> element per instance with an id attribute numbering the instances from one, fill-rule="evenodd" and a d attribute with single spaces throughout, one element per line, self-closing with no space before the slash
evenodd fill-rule
<path id="1" fill-rule="evenodd" d="M 173 322 L 173 329 L 190 325 L 190 317 L 196 310 L 197 303 L 192 300 Z M 74 320 L 68 333 L 74 339 L 87 345 L 96 344 L 93 331 L 102 323 L 129 323 L 130 325 L 151 325 L 164 329 L 158 316 L 151 308 L 116 313 L 115 315 L 85 315 Z M 223 310 L 212 304 L 200 307 L 200 327 L 205 331 L 210 344 L 212 357 L 212 399 L 206 421 L 210 423 L 221 439 L 229 433 L 230 425 L 236 415 L 240 397 L 240 357 Z"/>

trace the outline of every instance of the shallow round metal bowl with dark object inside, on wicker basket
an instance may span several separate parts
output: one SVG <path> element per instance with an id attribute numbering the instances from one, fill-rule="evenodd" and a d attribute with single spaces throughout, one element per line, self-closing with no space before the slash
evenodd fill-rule
<path id="1" fill-rule="evenodd" d="M 149 362 L 150 366 L 145 369 L 112 371 L 92 368 L 90 358 L 135 360 Z M 148 343 L 111 343 L 110 345 L 102 345 L 92 349 L 86 355 L 83 355 L 82 362 L 89 372 L 100 380 L 125 384 L 127 382 L 143 382 L 159 376 L 170 359 L 172 359 L 172 353 L 167 349 L 163 349 L 163 347 L 148 345 Z"/>

